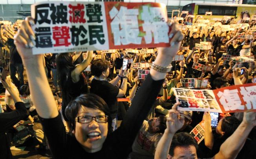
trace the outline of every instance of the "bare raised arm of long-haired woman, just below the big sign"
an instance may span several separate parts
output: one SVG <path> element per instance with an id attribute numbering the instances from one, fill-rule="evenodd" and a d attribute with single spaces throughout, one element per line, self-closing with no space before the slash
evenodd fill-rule
<path id="1" fill-rule="evenodd" d="M 82 52 L 75 52 L 75 56 L 77 58 L 80 56 Z M 71 78 L 73 82 L 78 82 L 80 80 L 81 73 L 88 67 L 92 60 L 93 51 L 87 51 L 87 57 L 82 61 L 81 64 L 75 67 L 73 71 L 71 71 Z"/>

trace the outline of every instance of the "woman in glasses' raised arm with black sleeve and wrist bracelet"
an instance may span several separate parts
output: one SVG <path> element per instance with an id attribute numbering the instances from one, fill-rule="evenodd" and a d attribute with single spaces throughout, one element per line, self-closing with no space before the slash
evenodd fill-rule
<path id="1" fill-rule="evenodd" d="M 159 53 L 154 61 L 155 65 L 163 68 L 170 66 L 172 59 L 179 50 L 181 41 L 183 40 L 183 35 L 181 31 L 179 31 L 176 23 L 172 24 L 172 31 L 170 34 L 173 35 L 173 38 L 170 40 L 171 47 L 159 48 Z M 139 91 L 137 91 L 133 98 L 132 106 L 119 127 L 122 132 L 127 132 L 129 139 L 131 139 L 128 144 L 133 143 L 144 119 L 146 119 L 146 115 L 154 104 L 160 88 L 162 87 L 163 80 L 165 79 L 166 72 L 161 72 L 155 69 L 153 69 L 153 67 L 150 68 L 150 74 L 143 82 Z"/>

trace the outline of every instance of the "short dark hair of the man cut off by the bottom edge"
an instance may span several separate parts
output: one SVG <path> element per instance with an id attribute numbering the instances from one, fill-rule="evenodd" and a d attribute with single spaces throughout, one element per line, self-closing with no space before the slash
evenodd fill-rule
<path id="1" fill-rule="evenodd" d="M 194 139 L 194 137 L 192 137 L 191 134 L 187 133 L 187 132 L 181 132 L 181 133 L 177 133 L 174 135 L 174 138 L 172 139 L 172 143 L 170 146 L 170 150 L 169 150 L 169 155 L 174 156 L 174 149 L 177 146 L 195 146 L 196 150 L 198 148 L 198 144 L 196 142 L 196 139 Z"/>

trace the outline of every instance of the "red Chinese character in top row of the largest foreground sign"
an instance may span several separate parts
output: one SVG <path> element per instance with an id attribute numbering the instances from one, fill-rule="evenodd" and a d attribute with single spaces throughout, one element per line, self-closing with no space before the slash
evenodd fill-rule
<path id="1" fill-rule="evenodd" d="M 73 6 L 71 4 L 68 5 L 70 8 L 69 10 L 69 22 L 71 23 L 85 23 L 86 20 L 84 19 L 84 5 L 83 4 L 77 4 L 76 6 Z"/>

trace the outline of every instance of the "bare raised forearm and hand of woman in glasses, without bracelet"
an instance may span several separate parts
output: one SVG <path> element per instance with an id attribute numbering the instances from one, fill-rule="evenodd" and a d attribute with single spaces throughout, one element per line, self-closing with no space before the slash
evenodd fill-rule
<path id="1" fill-rule="evenodd" d="M 15 35 L 15 45 L 26 67 L 29 90 L 38 115 L 46 119 L 54 118 L 57 117 L 59 111 L 45 74 L 42 63 L 43 55 L 32 55 L 32 49 L 25 48 L 27 42 L 35 39 L 35 33 L 31 29 L 29 22 L 33 23 L 34 21 L 32 18 L 26 18 L 22 22 L 22 28 L 26 28 L 26 30 L 20 29 L 18 34 Z M 29 37 L 31 39 L 28 39 Z"/>

